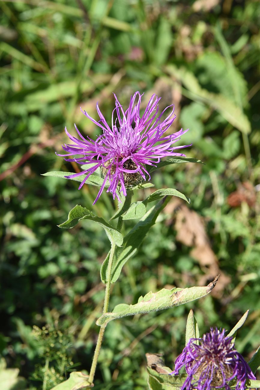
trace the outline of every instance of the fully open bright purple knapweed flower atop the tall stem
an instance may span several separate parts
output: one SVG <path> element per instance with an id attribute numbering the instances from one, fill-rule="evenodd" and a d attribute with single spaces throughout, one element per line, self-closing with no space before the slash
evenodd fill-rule
<path id="1" fill-rule="evenodd" d="M 162 157 L 185 156 L 185 154 L 176 153 L 175 150 L 191 146 L 173 146 L 176 141 L 180 140 L 181 135 L 188 130 L 183 131 L 181 129 L 175 134 L 165 135 L 166 130 L 176 117 L 173 113 L 174 105 L 166 107 L 158 115 L 158 102 L 161 98 L 153 95 L 141 116 L 142 95 L 139 92 L 135 92 L 134 96 L 131 96 L 129 106 L 125 111 L 115 94 L 114 97 L 116 108 L 112 112 L 111 127 L 102 115 L 97 103 L 96 110 L 100 117 L 98 122 L 87 112 L 82 112 L 96 126 L 99 126 L 103 133 L 94 141 L 89 137 L 83 137 L 75 125 L 81 138 L 78 139 L 69 134 L 65 128 L 66 134 L 74 144 L 62 145 L 62 148 L 68 154 L 58 154 L 58 156 L 73 156 L 65 158 L 66 161 L 76 161 L 82 165 L 91 164 L 89 168 L 80 173 L 65 176 L 68 179 L 73 179 L 86 174 L 78 189 L 84 185 L 87 178 L 97 168 L 100 168 L 104 181 L 94 203 L 100 197 L 107 180 L 109 181 L 107 192 L 111 192 L 114 199 L 117 197 L 120 200 L 116 192 L 118 187 L 119 191 L 126 196 L 126 188 L 140 184 L 148 178 L 150 180 L 146 165 L 156 165 Z M 166 110 L 169 108 L 170 113 L 163 119 Z M 114 116 L 116 117 L 115 120 Z"/>

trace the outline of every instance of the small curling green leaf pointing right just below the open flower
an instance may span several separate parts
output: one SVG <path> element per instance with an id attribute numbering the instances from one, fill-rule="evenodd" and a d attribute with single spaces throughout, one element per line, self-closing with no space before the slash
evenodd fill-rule
<path id="1" fill-rule="evenodd" d="M 178 198 L 190 203 L 190 199 L 183 195 L 180 191 L 175 190 L 175 188 L 161 188 L 160 190 L 153 192 L 146 199 L 132 203 L 126 213 L 123 214 L 123 220 L 142 218 L 142 216 L 146 213 L 146 206 L 148 203 L 162 199 L 167 195 L 177 196 Z"/>

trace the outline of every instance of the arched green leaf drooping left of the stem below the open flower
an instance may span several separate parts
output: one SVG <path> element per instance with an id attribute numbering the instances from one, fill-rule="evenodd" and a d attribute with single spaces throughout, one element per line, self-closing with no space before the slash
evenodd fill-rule
<path id="1" fill-rule="evenodd" d="M 119 230 L 109 225 L 109 223 L 106 222 L 103 218 L 94 215 L 90 210 L 86 209 L 85 207 L 78 206 L 78 204 L 73 207 L 71 211 L 69 211 L 67 221 L 61 223 L 61 225 L 58 226 L 64 229 L 71 229 L 72 227 L 77 225 L 79 221 L 85 219 L 91 220 L 101 225 L 103 229 L 105 229 L 105 232 L 107 233 L 107 236 L 110 239 L 111 243 L 115 243 L 118 246 L 121 246 L 123 244 L 123 236 L 119 232 Z"/>

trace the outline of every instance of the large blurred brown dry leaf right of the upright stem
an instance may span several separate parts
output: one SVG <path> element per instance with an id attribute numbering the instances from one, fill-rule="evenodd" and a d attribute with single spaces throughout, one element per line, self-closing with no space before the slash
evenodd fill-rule
<path id="1" fill-rule="evenodd" d="M 167 206 L 168 210 L 166 211 L 169 212 L 169 207 L 171 207 L 171 212 L 176 212 L 176 241 L 193 247 L 190 255 L 199 262 L 205 272 L 205 275 L 199 279 L 199 284 L 204 285 L 207 280 L 219 274 L 219 283 L 212 294 L 218 297 L 221 296 L 224 287 L 230 282 L 230 277 L 219 269 L 217 257 L 210 247 L 203 218 L 189 209 L 181 200 L 174 200 L 174 202 L 168 203 Z"/>

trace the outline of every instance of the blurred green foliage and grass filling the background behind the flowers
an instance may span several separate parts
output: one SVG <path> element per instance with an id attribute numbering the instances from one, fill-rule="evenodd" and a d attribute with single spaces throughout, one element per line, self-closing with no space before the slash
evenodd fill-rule
<path id="1" fill-rule="evenodd" d="M 145 388 L 146 352 L 164 353 L 172 366 L 191 307 L 201 333 L 216 324 L 231 329 L 250 308 L 237 348 L 251 356 L 260 344 L 260 3 L 13 0 L 0 8 L 0 354 L 7 367 L 20 369 L 30 390 L 49 390 L 69 371 L 90 367 L 109 240 L 88 221 L 71 231 L 57 225 L 76 204 L 91 209 L 96 188 L 78 191 L 73 181 L 40 174 L 78 169 L 54 151 L 74 121 L 98 134 L 80 106 L 95 116 L 99 101 L 109 120 L 112 92 L 126 105 L 135 90 L 162 96 L 161 108 L 174 102 L 172 130 L 190 128 L 186 154 L 206 165 L 167 166 L 152 181 L 191 198 L 230 279 L 220 278 L 215 296 L 108 324 L 95 387 Z M 104 193 L 93 211 L 108 220 L 115 207 Z M 207 266 L 176 242 L 173 210 L 124 267 L 111 308 L 207 279 Z"/>

